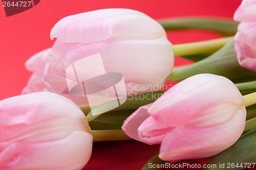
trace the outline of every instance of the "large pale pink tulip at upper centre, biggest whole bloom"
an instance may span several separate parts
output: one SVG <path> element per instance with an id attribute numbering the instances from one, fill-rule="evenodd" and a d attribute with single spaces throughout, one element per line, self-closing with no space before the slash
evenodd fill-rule
<path id="1" fill-rule="evenodd" d="M 44 58 L 50 64 L 44 82 L 49 91 L 59 94 L 69 92 L 66 69 L 96 54 L 100 54 L 103 68 L 89 62 L 83 78 L 118 72 L 129 95 L 152 91 L 146 85 L 161 88 L 174 64 L 172 44 L 161 25 L 130 9 L 101 9 L 65 17 L 50 36 L 57 39 Z M 75 81 L 76 77 L 69 79 Z"/>

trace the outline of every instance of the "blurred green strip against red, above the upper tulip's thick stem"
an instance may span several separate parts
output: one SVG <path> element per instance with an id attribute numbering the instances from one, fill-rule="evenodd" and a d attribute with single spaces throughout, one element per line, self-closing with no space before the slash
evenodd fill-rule
<path id="1" fill-rule="evenodd" d="M 239 22 L 214 18 L 178 18 L 159 21 L 166 31 L 209 30 L 222 35 L 235 35 Z"/>

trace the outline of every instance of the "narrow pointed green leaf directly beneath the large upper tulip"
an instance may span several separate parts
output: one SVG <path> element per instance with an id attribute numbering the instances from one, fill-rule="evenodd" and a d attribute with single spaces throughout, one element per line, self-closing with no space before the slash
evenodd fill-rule
<path id="1" fill-rule="evenodd" d="M 157 91 L 130 96 L 122 105 L 116 107 L 115 109 L 111 108 L 114 108 L 114 106 L 116 105 L 116 101 L 106 102 L 95 107 L 92 111 L 90 111 L 87 115 L 87 120 L 90 122 L 91 120 L 94 120 L 103 113 L 109 113 L 118 110 L 138 109 L 141 106 L 155 102 L 164 92 L 165 91 Z M 92 114 L 92 112 L 94 114 Z"/>

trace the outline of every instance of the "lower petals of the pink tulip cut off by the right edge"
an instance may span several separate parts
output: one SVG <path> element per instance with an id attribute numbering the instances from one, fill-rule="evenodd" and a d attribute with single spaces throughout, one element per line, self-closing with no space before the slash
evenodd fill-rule
<path id="1" fill-rule="evenodd" d="M 239 24 L 234 40 L 239 64 L 256 72 L 256 15 Z"/>

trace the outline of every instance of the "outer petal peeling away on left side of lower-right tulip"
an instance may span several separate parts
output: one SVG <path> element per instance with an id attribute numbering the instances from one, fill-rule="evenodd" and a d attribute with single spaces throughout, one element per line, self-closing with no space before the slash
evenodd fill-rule
<path id="1" fill-rule="evenodd" d="M 124 120 L 122 130 L 127 136 L 142 141 L 138 134 L 138 128 L 142 122 L 150 116 L 150 114 L 147 113 L 147 109 L 150 108 L 151 105 L 152 104 L 141 106 Z"/>

